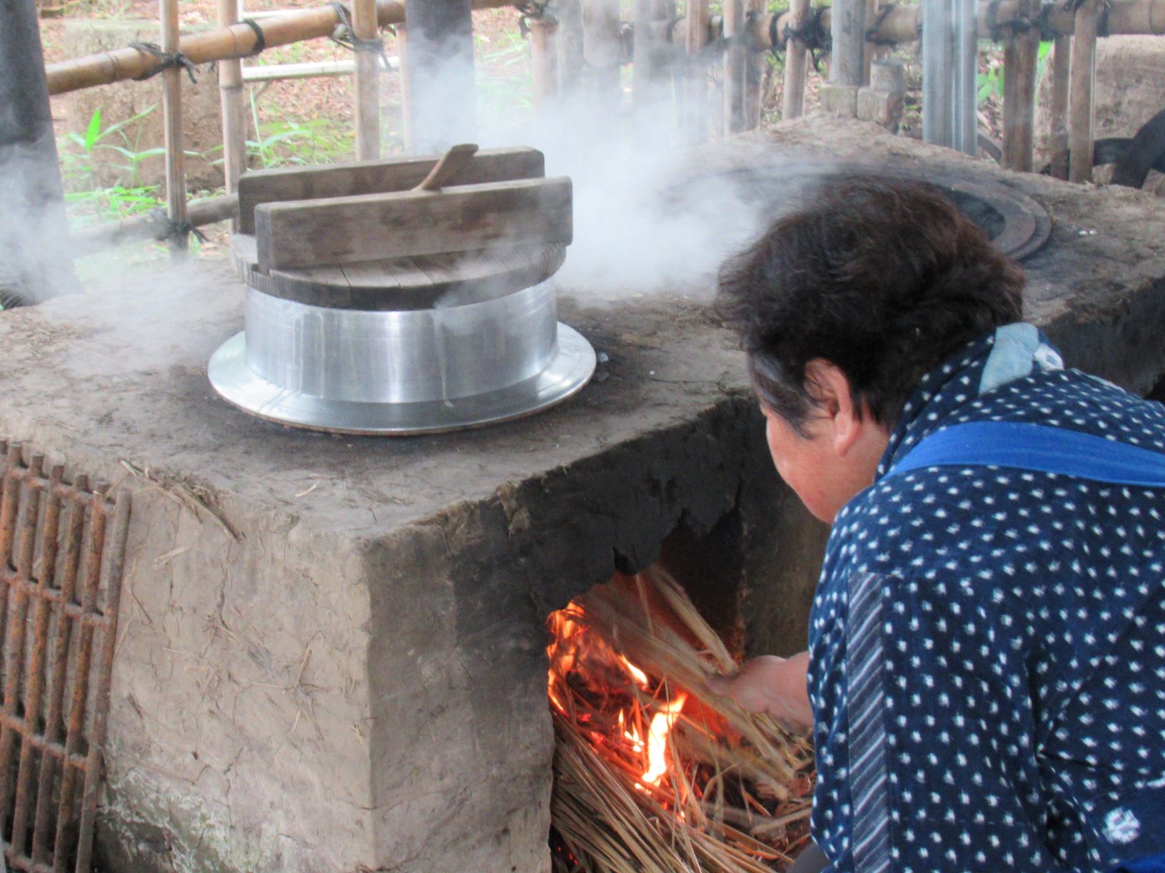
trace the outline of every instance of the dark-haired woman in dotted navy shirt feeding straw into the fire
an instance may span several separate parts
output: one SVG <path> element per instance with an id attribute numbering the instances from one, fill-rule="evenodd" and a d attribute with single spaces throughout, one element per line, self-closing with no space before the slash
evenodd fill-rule
<path id="1" fill-rule="evenodd" d="M 722 269 L 777 470 L 833 526 L 809 651 L 713 682 L 812 719 L 798 870 L 1165 861 L 1165 409 L 1064 369 L 1022 286 L 903 180 L 826 180 Z"/>

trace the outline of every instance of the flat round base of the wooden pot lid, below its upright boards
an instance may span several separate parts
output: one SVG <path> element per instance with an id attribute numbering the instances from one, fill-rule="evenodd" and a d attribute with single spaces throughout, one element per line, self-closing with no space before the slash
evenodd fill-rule
<path id="1" fill-rule="evenodd" d="M 255 237 L 233 234 L 231 258 L 248 286 L 273 297 L 329 308 L 424 310 L 438 300 L 490 300 L 544 282 L 563 265 L 566 247 L 508 246 L 263 272 Z"/>

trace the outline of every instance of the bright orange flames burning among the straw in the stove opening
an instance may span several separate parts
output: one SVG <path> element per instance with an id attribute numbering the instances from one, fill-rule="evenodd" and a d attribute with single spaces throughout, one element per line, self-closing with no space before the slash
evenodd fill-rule
<path id="1" fill-rule="evenodd" d="M 572 602 L 566 609 L 551 613 L 548 620 L 552 634 L 546 646 L 550 702 L 559 712 L 570 715 L 566 688 L 578 691 L 581 687 L 587 696 L 596 694 L 605 702 L 613 703 L 606 709 L 614 711 L 617 731 L 605 732 L 600 725 L 592 724 L 592 740 L 605 746 L 620 739 L 627 740 L 621 751 L 638 755 L 642 761 L 642 775 L 636 787 L 647 790 L 647 786 L 658 786 L 670 765 L 668 737 L 679 721 L 687 695 L 678 691 L 671 700 L 661 700 L 658 695 L 666 694 L 666 683 L 657 683 L 652 689 L 648 674 L 591 633 L 580 623 L 582 617 L 582 605 Z M 612 675 L 613 668 L 626 673 L 642 695 L 621 693 L 620 687 L 626 682 L 616 681 Z M 648 719 L 652 709 L 655 712 Z"/>

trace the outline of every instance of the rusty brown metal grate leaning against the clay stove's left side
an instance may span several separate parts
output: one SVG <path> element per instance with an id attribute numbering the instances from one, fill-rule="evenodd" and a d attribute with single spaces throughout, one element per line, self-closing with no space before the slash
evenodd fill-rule
<path id="1" fill-rule="evenodd" d="M 10 870 L 92 868 L 129 495 L 0 440 L 0 825 Z"/>

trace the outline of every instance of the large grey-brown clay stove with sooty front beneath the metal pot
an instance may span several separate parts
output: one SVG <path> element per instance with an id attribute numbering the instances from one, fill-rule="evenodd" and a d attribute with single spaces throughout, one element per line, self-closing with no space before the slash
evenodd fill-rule
<path id="1" fill-rule="evenodd" d="M 1165 371 L 1150 198 L 819 118 L 699 172 L 798 149 L 1032 198 L 1052 228 L 1025 262 L 1030 318 L 1134 390 Z M 0 431 L 133 491 L 98 810 L 111 870 L 543 873 L 543 623 L 677 528 L 736 574 L 751 651 L 804 644 L 824 531 L 765 460 L 706 288 L 560 284 L 608 378 L 534 418 L 383 440 L 219 399 L 205 365 L 242 327 L 242 288 L 226 268 L 182 279 L 0 317 Z"/>

